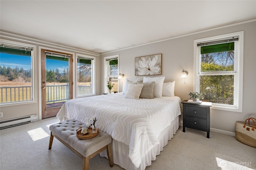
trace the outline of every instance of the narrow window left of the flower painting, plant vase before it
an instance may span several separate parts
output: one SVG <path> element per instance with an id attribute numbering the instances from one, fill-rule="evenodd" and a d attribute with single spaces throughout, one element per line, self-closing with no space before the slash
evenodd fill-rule
<path id="1" fill-rule="evenodd" d="M 104 82 L 104 92 L 108 92 L 107 83 L 114 83 L 112 92 L 118 92 L 118 57 L 119 55 L 114 55 L 110 57 L 105 57 L 105 82 Z"/>

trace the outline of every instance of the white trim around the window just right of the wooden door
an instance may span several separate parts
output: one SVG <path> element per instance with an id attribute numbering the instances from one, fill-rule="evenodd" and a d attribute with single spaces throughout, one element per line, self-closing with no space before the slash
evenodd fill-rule
<path id="1" fill-rule="evenodd" d="M 78 90 L 77 90 L 77 86 L 78 86 L 78 75 L 77 75 L 77 69 L 78 69 L 78 66 L 77 66 L 77 59 L 78 59 L 78 56 L 79 57 L 84 57 L 84 58 L 91 58 L 93 59 L 92 60 L 92 93 L 91 94 L 84 94 L 84 95 L 78 95 Z M 76 91 L 76 98 L 82 98 L 82 97 L 87 97 L 87 96 L 95 96 L 95 60 L 96 60 L 96 57 L 92 57 L 92 56 L 89 56 L 89 55 L 83 55 L 83 54 L 78 54 L 76 53 L 76 82 L 75 82 L 75 91 Z"/>

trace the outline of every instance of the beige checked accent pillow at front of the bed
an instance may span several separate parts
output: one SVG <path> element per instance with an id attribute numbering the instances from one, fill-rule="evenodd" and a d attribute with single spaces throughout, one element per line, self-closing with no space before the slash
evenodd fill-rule
<path id="1" fill-rule="evenodd" d="M 143 84 L 143 88 L 140 93 L 140 98 L 154 99 L 156 82 L 151 82 L 151 83 L 138 82 L 138 84 Z"/>

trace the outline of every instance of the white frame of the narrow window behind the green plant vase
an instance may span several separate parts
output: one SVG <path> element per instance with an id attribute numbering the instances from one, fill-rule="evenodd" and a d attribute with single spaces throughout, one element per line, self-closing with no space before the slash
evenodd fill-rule
<path id="1" fill-rule="evenodd" d="M 108 59 L 112 59 L 112 58 L 117 58 L 118 60 L 118 73 L 119 73 L 119 55 L 112 55 L 109 57 L 104 57 L 104 93 L 108 93 L 108 78 L 109 77 L 116 77 L 117 78 L 117 89 L 119 92 L 119 79 L 118 79 L 118 75 L 117 76 L 109 76 L 108 75 L 108 66 L 109 66 L 109 61 L 107 61 Z"/>

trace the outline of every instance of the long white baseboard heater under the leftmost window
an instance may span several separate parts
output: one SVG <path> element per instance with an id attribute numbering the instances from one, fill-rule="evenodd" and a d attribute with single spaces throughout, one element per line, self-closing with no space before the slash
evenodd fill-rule
<path id="1" fill-rule="evenodd" d="M 31 122 L 31 117 L 33 117 L 33 116 L 34 115 L 30 115 L 30 116 L 25 116 L 25 117 L 19 117 L 19 118 L 16 118 L 16 119 L 1 121 L 0 122 L 0 129 L 5 129 L 5 128 L 8 128 L 8 127 L 13 127 L 13 126 L 17 126 L 17 125 L 30 123 Z"/>

